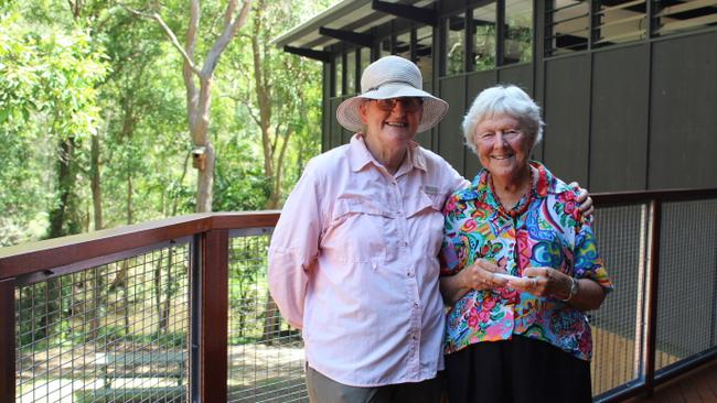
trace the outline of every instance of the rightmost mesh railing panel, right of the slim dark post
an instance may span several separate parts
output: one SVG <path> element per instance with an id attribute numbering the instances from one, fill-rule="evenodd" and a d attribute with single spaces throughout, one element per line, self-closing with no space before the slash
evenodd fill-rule
<path id="1" fill-rule="evenodd" d="M 717 346 L 717 199 L 663 204 L 655 368 Z"/>

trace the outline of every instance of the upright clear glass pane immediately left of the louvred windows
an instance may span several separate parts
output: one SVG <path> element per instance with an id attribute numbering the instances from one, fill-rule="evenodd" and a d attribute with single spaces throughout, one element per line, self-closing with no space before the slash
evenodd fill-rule
<path id="1" fill-rule="evenodd" d="M 505 43 L 503 64 L 533 58 L 533 1 L 505 1 Z"/>

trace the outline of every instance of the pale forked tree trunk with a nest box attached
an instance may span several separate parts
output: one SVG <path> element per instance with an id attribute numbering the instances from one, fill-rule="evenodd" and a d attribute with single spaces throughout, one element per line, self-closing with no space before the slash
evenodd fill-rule
<path id="1" fill-rule="evenodd" d="M 239 28 L 244 25 L 252 1 L 245 0 L 242 9 L 237 11 L 238 0 L 229 0 L 224 10 L 224 25 L 221 34 L 215 39 L 214 44 L 205 56 L 202 68 L 199 68 L 195 58 L 195 46 L 200 30 L 200 0 L 192 0 L 190 4 L 189 28 L 184 45 L 179 43 L 174 32 L 167 25 L 158 12 L 146 13 L 132 11 L 138 15 L 150 18 L 160 24 L 172 45 L 180 52 L 184 64 L 182 76 L 186 88 L 186 112 L 189 129 L 192 141 L 197 151 L 201 151 L 199 159 L 199 181 L 196 189 L 196 211 L 204 213 L 212 210 L 212 190 L 214 183 L 214 148 L 208 134 L 211 107 L 212 107 L 212 80 L 214 69 L 220 56 L 234 39 Z M 199 88 L 197 83 L 199 81 Z"/>

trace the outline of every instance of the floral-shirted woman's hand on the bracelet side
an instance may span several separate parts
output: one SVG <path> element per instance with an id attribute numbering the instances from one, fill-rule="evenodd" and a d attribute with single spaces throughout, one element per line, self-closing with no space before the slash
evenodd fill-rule
<path id="1" fill-rule="evenodd" d="M 566 299 L 570 296 L 570 276 L 550 268 L 526 268 L 523 276 L 509 281 L 509 286 L 535 296 Z"/>

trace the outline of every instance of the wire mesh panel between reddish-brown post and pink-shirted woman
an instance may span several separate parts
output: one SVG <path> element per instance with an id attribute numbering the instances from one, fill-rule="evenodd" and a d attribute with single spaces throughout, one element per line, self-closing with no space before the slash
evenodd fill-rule
<path id="1" fill-rule="evenodd" d="M 229 241 L 228 401 L 308 402 L 301 335 L 269 297 L 268 244 L 257 230 Z"/>

